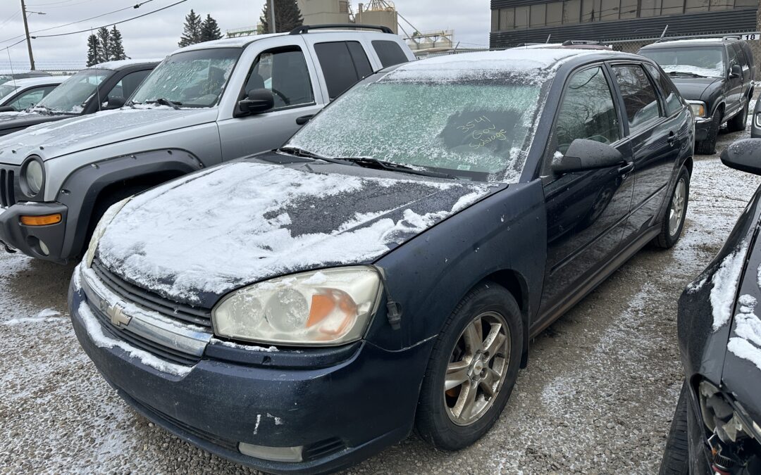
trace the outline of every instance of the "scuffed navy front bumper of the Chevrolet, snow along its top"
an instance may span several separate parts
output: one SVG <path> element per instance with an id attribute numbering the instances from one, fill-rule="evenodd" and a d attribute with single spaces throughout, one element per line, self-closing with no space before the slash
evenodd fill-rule
<path id="1" fill-rule="evenodd" d="M 92 331 L 94 314 L 77 275 L 68 303 L 85 353 L 135 410 L 207 451 L 269 473 L 339 470 L 405 439 L 432 345 L 387 351 L 361 342 L 329 350 L 336 354 L 328 361 L 322 350 L 313 358 L 312 350 L 251 351 L 212 340 L 198 363 L 173 374 L 125 342 L 104 344 L 98 333 L 108 324 L 96 320 Z M 239 442 L 302 446 L 304 460 L 253 458 L 238 451 Z"/>

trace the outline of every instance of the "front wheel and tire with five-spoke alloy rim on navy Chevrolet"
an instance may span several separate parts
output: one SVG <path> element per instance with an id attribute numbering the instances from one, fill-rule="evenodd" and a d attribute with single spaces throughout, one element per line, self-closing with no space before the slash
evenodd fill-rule
<path id="1" fill-rule="evenodd" d="M 485 281 L 457 304 L 425 370 L 416 431 L 442 450 L 486 434 L 508 402 L 523 353 L 523 320 L 512 294 Z"/>

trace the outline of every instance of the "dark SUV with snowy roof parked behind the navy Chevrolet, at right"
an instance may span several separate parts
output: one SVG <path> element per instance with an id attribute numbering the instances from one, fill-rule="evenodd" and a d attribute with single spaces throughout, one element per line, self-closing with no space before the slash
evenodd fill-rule
<path id="1" fill-rule="evenodd" d="M 666 71 L 695 115 L 697 154 L 713 154 L 718 129 L 745 130 L 753 97 L 753 53 L 736 37 L 677 40 L 639 50 Z"/>

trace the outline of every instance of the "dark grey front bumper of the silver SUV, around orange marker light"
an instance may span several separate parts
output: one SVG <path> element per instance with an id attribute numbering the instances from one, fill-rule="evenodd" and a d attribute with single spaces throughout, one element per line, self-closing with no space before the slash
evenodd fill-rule
<path id="1" fill-rule="evenodd" d="M 0 213 L 0 243 L 7 248 L 19 250 L 33 258 L 47 261 L 64 261 L 62 256 L 63 238 L 66 232 L 68 208 L 58 203 L 14 204 Z M 24 226 L 21 216 L 44 216 L 61 214 L 61 221 L 46 226 Z M 47 253 L 43 251 L 43 242 Z"/>

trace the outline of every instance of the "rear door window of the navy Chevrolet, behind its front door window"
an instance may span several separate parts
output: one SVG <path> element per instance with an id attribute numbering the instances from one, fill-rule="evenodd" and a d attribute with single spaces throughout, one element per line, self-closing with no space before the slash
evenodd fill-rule
<path id="1" fill-rule="evenodd" d="M 640 131 L 648 121 L 660 115 L 655 87 L 642 66 L 613 66 L 613 72 L 616 74 L 616 82 L 626 107 L 629 131 Z"/>

